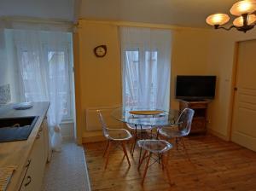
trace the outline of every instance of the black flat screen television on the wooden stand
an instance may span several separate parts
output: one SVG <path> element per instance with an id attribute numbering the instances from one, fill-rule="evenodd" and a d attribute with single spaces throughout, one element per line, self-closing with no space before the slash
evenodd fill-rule
<path id="1" fill-rule="evenodd" d="M 216 76 L 177 76 L 176 98 L 182 100 L 212 100 Z"/>

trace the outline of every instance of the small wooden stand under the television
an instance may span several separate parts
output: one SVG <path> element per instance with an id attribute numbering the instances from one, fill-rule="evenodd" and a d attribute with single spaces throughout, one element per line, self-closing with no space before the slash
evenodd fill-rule
<path id="1" fill-rule="evenodd" d="M 190 134 L 207 132 L 207 107 L 210 101 L 186 101 L 179 100 L 180 113 L 184 108 L 191 108 L 195 111 L 191 124 Z"/>

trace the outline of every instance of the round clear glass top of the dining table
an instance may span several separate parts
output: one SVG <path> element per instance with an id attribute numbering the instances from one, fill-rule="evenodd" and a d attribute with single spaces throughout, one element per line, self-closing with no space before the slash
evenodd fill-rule
<path id="1" fill-rule="evenodd" d="M 177 110 L 166 112 L 158 109 L 119 107 L 114 109 L 111 115 L 114 119 L 127 124 L 162 127 L 176 124 L 179 112 Z"/>

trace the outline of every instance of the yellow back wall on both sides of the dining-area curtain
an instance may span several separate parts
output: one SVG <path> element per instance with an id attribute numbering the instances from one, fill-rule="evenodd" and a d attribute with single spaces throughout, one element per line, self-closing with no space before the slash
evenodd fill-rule
<path id="1" fill-rule="evenodd" d="M 205 74 L 208 32 L 198 29 L 175 29 L 172 32 L 171 107 L 178 108 L 174 100 L 176 75 Z M 118 26 L 111 22 L 79 20 L 74 41 L 77 126 L 81 142 L 82 137 L 102 135 L 101 130 L 86 130 L 86 108 L 121 105 Z M 108 53 L 104 58 L 96 58 L 93 49 L 102 43 L 107 44 Z"/>

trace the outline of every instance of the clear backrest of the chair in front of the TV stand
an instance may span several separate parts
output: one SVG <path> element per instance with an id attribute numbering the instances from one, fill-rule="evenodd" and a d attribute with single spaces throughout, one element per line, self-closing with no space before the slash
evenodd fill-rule
<path id="1" fill-rule="evenodd" d="M 182 130 L 185 135 L 189 135 L 194 113 L 193 109 L 185 108 L 177 119 L 178 129 Z"/>

